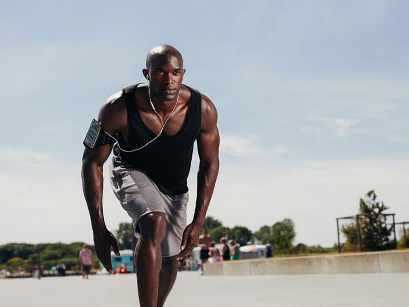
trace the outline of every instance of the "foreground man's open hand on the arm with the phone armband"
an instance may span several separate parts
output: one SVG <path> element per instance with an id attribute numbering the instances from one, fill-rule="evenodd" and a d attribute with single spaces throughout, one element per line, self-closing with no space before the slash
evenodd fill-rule
<path id="1" fill-rule="evenodd" d="M 115 236 L 106 228 L 94 230 L 94 244 L 99 261 L 109 273 L 112 273 L 111 246 L 115 255 L 120 255 Z"/>

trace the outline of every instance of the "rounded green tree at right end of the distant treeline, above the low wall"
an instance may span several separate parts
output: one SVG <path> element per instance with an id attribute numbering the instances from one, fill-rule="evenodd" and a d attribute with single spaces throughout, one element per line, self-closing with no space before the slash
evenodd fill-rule
<path id="1" fill-rule="evenodd" d="M 295 238 L 294 222 L 290 218 L 284 218 L 276 222 L 272 227 L 271 239 L 277 252 L 290 252 Z"/>

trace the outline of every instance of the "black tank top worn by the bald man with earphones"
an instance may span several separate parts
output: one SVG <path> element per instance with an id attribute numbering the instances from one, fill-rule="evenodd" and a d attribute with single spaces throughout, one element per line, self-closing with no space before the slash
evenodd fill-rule
<path id="1" fill-rule="evenodd" d="M 125 140 L 118 133 L 121 148 L 132 150 L 145 145 L 156 134 L 143 123 L 135 101 L 135 88 L 138 84 L 122 89 L 125 98 L 129 135 Z M 186 86 L 186 85 L 185 85 Z M 174 136 L 159 136 L 146 147 L 133 152 L 124 152 L 115 144 L 114 154 L 117 158 L 140 169 L 158 185 L 159 189 L 170 196 L 188 191 L 187 177 L 192 161 L 193 145 L 199 135 L 202 115 L 202 98 L 200 93 L 189 87 L 191 97 L 185 122 Z"/>

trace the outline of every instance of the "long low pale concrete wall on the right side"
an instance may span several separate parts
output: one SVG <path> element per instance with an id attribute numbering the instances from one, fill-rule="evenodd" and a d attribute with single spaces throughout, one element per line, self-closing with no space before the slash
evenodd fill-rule
<path id="1" fill-rule="evenodd" d="M 408 273 L 409 250 L 205 263 L 205 275 Z"/>

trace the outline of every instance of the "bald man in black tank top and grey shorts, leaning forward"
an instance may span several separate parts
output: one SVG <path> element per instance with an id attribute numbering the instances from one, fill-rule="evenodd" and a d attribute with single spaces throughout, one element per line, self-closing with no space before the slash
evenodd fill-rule
<path id="1" fill-rule="evenodd" d="M 114 136 L 111 184 L 139 237 L 134 254 L 139 302 L 163 306 L 177 274 L 177 260 L 196 245 L 219 169 L 217 112 L 212 101 L 182 85 L 180 52 L 152 48 L 142 70 L 147 83 L 124 88 L 102 105 L 97 120 Z M 104 133 L 105 133 L 104 132 Z M 200 158 L 193 221 L 186 226 L 187 176 L 197 142 Z M 112 271 L 116 239 L 102 212 L 102 165 L 112 144 L 85 148 L 82 183 L 97 256 Z"/>

